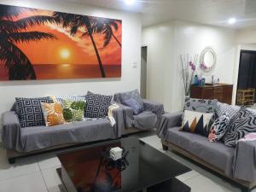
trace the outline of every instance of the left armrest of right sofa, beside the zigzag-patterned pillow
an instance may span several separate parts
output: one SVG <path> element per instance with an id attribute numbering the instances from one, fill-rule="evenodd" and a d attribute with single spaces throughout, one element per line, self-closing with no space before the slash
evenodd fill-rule
<path id="1" fill-rule="evenodd" d="M 158 137 L 164 139 L 169 128 L 180 126 L 182 117 L 183 112 L 164 113 L 161 115 L 159 125 L 157 126 Z"/>

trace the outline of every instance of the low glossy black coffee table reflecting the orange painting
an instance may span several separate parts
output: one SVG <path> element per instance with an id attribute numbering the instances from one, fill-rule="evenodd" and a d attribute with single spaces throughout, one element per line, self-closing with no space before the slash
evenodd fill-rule
<path id="1" fill-rule="evenodd" d="M 123 148 L 123 158 L 108 157 L 110 148 Z M 190 192 L 175 177 L 190 169 L 137 137 L 126 137 L 57 154 L 57 169 L 67 192 Z"/>

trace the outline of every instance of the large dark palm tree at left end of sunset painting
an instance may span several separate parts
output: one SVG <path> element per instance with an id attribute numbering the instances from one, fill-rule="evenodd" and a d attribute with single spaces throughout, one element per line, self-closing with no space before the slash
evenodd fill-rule
<path id="1" fill-rule="evenodd" d="M 31 61 L 16 44 L 55 38 L 53 34 L 45 32 L 27 32 L 26 29 L 30 26 L 55 20 L 44 15 L 18 19 L 18 16 L 26 11 L 33 9 L 0 6 L 0 61 L 9 69 L 9 80 L 37 79 Z"/>

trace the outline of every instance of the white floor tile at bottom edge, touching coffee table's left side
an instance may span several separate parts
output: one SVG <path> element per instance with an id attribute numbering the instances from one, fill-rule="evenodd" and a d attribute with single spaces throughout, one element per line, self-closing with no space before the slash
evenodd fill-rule
<path id="1" fill-rule="evenodd" d="M 56 168 L 50 168 L 42 171 L 44 182 L 49 192 L 63 192 L 65 189 L 61 184 L 61 179 L 56 172 Z"/>

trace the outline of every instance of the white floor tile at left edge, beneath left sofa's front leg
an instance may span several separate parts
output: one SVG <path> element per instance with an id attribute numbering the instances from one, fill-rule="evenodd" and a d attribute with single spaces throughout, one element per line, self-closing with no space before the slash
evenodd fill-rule
<path id="1" fill-rule="evenodd" d="M 0 180 L 39 171 L 38 162 L 35 157 L 18 159 L 13 165 L 10 165 L 7 159 L 0 161 Z"/>

